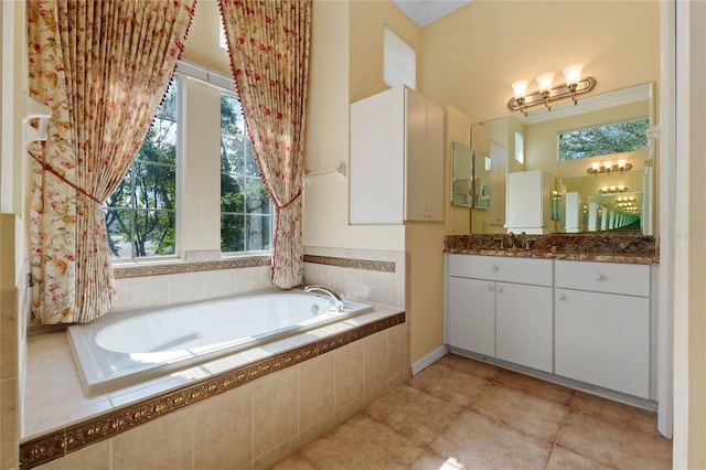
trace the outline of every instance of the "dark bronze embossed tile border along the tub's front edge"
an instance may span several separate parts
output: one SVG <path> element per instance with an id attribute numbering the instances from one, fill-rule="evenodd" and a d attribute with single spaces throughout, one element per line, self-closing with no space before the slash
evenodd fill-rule
<path id="1" fill-rule="evenodd" d="M 405 312 L 356 327 L 291 351 L 274 355 L 231 372 L 214 375 L 193 385 L 169 392 L 65 429 L 20 444 L 20 468 L 31 469 L 115 437 L 185 406 L 227 392 L 272 372 L 281 371 L 354 341 L 403 324 Z"/>

